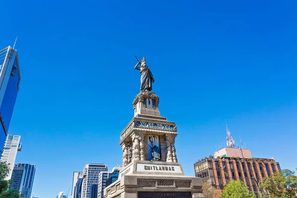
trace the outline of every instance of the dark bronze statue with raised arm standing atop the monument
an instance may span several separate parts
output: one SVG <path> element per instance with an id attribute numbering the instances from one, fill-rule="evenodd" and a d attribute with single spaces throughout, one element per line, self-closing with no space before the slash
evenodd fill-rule
<path id="1" fill-rule="evenodd" d="M 136 64 L 134 69 L 140 70 L 140 74 L 141 74 L 140 90 L 151 91 L 152 83 L 154 82 L 154 79 L 153 79 L 152 73 L 150 72 L 150 69 L 147 66 L 146 56 L 144 56 L 143 59 L 141 59 L 141 61 Z"/>

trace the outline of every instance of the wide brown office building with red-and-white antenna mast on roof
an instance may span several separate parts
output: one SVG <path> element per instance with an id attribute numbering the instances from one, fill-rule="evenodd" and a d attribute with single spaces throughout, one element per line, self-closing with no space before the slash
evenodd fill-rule
<path id="1" fill-rule="evenodd" d="M 235 143 L 227 128 L 227 146 L 214 152 L 214 157 L 198 160 L 194 164 L 195 176 L 202 182 L 209 182 L 216 189 L 222 190 L 230 180 L 243 181 L 249 192 L 261 193 L 259 184 L 262 178 L 269 177 L 281 170 L 274 158 L 255 158 L 246 148 L 235 148 Z"/>

